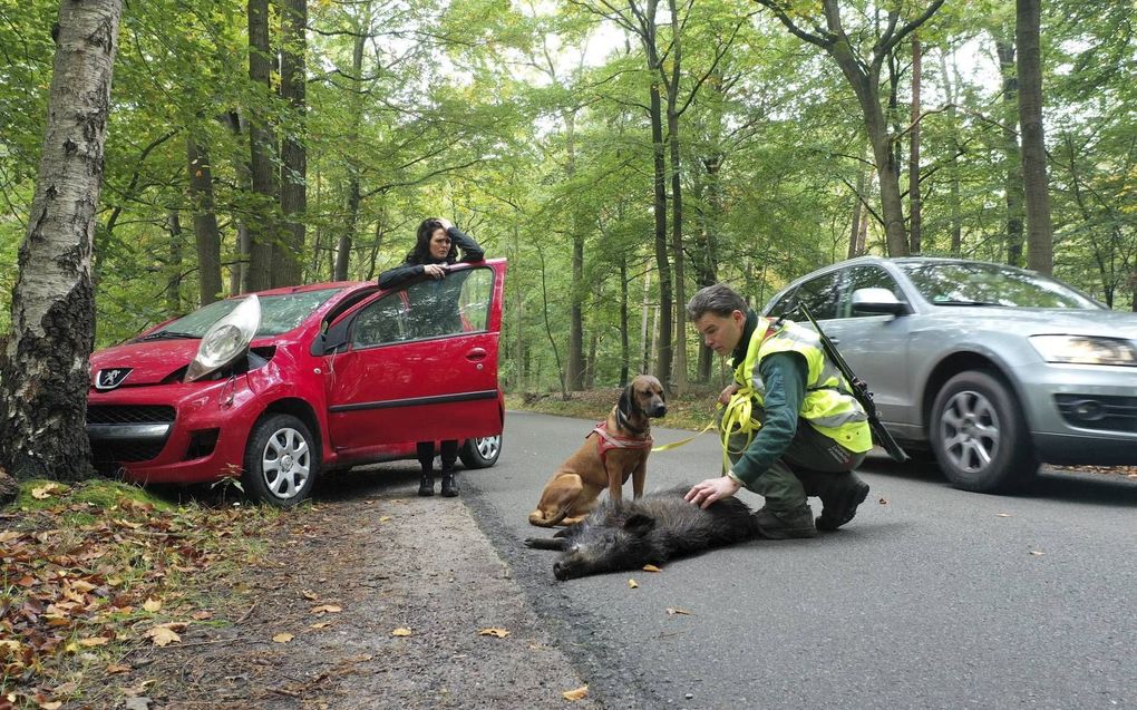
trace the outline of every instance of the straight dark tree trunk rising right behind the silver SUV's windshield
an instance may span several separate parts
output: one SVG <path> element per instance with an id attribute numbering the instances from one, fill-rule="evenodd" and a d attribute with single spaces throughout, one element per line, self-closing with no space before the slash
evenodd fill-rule
<path id="1" fill-rule="evenodd" d="M 1014 41 L 1019 49 L 1019 125 L 1022 128 L 1022 182 L 1027 203 L 1027 266 L 1054 270 L 1054 233 L 1043 136 L 1043 66 L 1039 48 L 1040 0 L 1016 0 Z"/>

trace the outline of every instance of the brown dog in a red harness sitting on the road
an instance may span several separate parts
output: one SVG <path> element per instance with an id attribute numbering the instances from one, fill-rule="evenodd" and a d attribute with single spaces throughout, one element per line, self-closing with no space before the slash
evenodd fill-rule
<path id="1" fill-rule="evenodd" d="M 545 484 L 541 502 L 529 513 L 529 521 L 540 527 L 580 523 L 596 508 L 605 488 L 611 500 L 621 500 L 629 476 L 632 495 L 641 496 L 647 454 L 652 451 L 649 417 L 665 414 L 667 407 L 659 381 L 650 375 L 636 376 L 608 418 L 584 437 L 576 453 Z"/>

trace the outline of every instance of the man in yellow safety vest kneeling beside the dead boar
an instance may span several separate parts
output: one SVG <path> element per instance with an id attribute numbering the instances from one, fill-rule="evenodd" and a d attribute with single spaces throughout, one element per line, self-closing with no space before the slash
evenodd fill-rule
<path id="1" fill-rule="evenodd" d="M 852 520 L 869 495 L 853 469 L 872 436 L 818 334 L 758 316 L 725 284 L 696 293 L 687 315 L 735 368 L 733 384 L 719 395 L 725 473 L 691 487 L 687 500 L 706 508 L 746 487 L 765 498 L 757 519 L 775 540 L 813 537 Z M 807 495 L 822 502 L 816 525 Z"/>

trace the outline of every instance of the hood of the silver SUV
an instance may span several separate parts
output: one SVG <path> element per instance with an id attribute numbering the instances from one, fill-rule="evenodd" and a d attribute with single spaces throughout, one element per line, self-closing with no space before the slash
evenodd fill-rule
<path id="1" fill-rule="evenodd" d="M 1137 314 L 1063 308 L 986 308 L 939 306 L 930 316 L 956 320 L 972 331 L 997 329 L 1022 335 L 1098 335 L 1137 341 Z"/>

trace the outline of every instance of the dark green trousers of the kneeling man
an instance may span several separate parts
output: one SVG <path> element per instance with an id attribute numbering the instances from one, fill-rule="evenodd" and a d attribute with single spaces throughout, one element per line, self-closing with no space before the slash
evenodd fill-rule
<path id="1" fill-rule="evenodd" d="M 727 453 L 731 463 L 741 458 L 748 443 L 746 434 L 730 437 Z M 798 419 L 797 432 L 786 453 L 747 488 L 765 498 L 770 510 L 794 510 L 805 504 L 807 495 L 798 474 L 841 474 L 860 466 L 864 457 L 829 438 L 805 419 Z"/>

